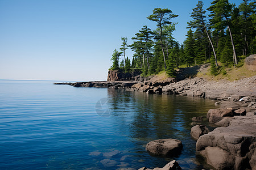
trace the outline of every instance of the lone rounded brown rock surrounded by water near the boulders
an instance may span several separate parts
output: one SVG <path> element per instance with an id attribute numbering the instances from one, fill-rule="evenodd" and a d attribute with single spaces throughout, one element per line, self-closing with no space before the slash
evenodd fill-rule
<path id="1" fill-rule="evenodd" d="M 146 145 L 146 151 L 154 156 L 177 156 L 183 148 L 177 139 L 158 139 Z"/>

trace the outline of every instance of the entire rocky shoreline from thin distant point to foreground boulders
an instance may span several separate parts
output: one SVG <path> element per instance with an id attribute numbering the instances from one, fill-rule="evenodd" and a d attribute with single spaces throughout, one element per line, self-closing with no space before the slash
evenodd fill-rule
<path id="1" fill-rule="evenodd" d="M 108 87 L 147 94 L 184 95 L 216 100 L 220 109 L 210 109 L 207 119 L 218 128 L 194 126 L 196 151 L 215 169 L 256 169 L 256 76 L 228 82 L 191 78 L 177 81 L 101 81 L 55 83 L 74 87 Z M 204 119 L 193 118 L 192 124 Z M 170 163 L 169 163 L 170 164 Z M 176 163 L 175 163 L 176 164 Z M 167 164 L 168 169 L 171 169 Z M 158 169 L 167 169 L 158 168 Z M 144 168 L 146 169 L 146 168 Z"/>

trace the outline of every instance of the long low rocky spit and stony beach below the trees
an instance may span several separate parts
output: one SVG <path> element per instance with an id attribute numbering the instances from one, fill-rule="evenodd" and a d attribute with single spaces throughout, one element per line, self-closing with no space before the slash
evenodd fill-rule
<path id="1" fill-rule="evenodd" d="M 177 82 L 170 78 L 162 82 L 151 82 L 150 80 L 139 81 L 100 81 L 100 82 L 76 82 L 55 83 L 67 84 L 74 87 L 108 87 L 123 89 L 126 91 L 141 91 L 147 94 L 167 94 L 197 96 L 214 100 L 239 101 L 243 97 L 249 107 L 256 107 L 256 76 L 245 78 L 234 82 L 214 82 L 204 78 L 185 79 Z"/>

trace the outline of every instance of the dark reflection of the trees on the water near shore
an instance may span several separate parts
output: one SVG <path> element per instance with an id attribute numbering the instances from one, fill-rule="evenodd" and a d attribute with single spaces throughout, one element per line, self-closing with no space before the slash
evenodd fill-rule
<path id="1" fill-rule="evenodd" d="M 163 167 L 176 159 L 183 169 L 201 169 L 196 165 L 195 141 L 190 136 L 191 118 L 206 116 L 214 101 L 199 97 L 175 95 L 148 95 L 108 89 L 110 114 L 118 122 L 121 135 L 133 145 L 126 154 L 133 155 L 138 166 Z M 175 138 L 183 142 L 183 152 L 177 158 L 156 158 L 145 151 L 146 143 L 162 138 Z M 195 164 L 196 163 L 196 164 Z"/>

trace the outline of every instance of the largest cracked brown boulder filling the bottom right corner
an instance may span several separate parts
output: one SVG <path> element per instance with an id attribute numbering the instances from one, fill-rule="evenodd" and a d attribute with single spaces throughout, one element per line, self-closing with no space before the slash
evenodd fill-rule
<path id="1" fill-rule="evenodd" d="M 199 137 L 196 151 L 216 169 L 256 169 L 255 114 L 249 112 L 246 116 L 225 117 L 221 121 L 228 126 Z"/>

